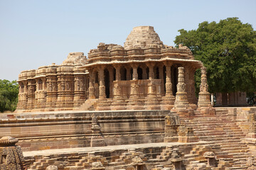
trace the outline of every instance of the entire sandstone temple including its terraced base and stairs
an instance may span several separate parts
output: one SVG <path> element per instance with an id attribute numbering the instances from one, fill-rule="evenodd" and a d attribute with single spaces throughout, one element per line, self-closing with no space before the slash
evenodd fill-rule
<path id="1" fill-rule="evenodd" d="M 151 26 L 18 84 L 16 112 L 0 115 L 0 169 L 256 169 L 256 109 L 213 108 L 203 63 Z"/>

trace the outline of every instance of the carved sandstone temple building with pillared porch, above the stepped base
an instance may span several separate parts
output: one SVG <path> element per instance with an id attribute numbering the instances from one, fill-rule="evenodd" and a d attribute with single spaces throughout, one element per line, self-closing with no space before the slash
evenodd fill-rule
<path id="1" fill-rule="evenodd" d="M 170 110 L 175 102 L 196 108 L 194 73 L 201 67 L 188 47 L 166 46 L 153 27 L 139 26 L 124 47 L 100 43 L 87 58 L 70 52 L 60 65 L 21 72 L 16 111 Z"/>

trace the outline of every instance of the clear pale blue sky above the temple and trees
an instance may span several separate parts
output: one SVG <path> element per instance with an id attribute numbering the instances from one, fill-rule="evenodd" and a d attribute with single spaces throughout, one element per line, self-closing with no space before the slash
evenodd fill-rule
<path id="1" fill-rule="evenodd" d="M 136 26 L 154 26 L 174 46 L 178 30 L 229 17 L 256 30 L 256 1 L 0 0 L 0 79 L 61 64 L 69 52 L 87 56 L 100 42 L 124 45 Z"/>

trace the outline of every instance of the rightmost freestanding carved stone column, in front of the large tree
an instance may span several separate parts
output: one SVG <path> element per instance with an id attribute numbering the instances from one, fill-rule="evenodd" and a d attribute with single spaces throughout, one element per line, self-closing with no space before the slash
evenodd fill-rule
<path id="1" fill-rule="evenodd" d="M 210 103 L 210 93 L 208 92 L 206 67 L 201 68 L 201 84 L 200 92 L 198 94 L 198 110 L 201 111 L 203 115 L 214 115 L 215 109 Z"/>

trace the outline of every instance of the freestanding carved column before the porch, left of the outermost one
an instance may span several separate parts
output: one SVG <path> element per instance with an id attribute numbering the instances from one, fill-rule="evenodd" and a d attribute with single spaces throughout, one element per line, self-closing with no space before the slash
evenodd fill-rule
<path id="1" fill-rule="evenodd" d="M 184 78 L 184 67 L 178 67 L 178 84 L 177 93 L 174 102 L 174 108 L 171 111 L 175 111 L 180 116 L 189 117 L 193 115 L 193 109 L 188 105 L 188 98 L 186 93 L 186 84 Z"/>

